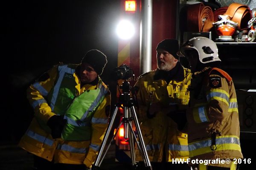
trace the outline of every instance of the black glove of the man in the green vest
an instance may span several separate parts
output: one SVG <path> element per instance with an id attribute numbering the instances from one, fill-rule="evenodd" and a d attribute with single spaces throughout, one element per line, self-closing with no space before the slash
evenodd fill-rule
<path id="1" fill-rule="evenodd" d="M 54 115 L 50 117 L 50 119 L 47 122 L 47 125 L 52 130 L 52 139 L 60 138 L 61 132 L 66 125 L 67 119 L 63 119 L 63 116 Z"/>

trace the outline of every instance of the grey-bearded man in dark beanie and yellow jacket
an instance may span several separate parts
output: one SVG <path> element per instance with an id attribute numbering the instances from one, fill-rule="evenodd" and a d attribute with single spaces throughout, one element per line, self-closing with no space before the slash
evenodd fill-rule
<path id="1" fill-rule="evenodd" d="M 157 69 L 141 75 L 134 85 L 143 139 L 153 169 L 189 170 L 177 161 L 189 158 L 187 134 L 182 131 L 192 74 L 178 61 L 177 40 L 161 41 L 156 51 Z M 140 153 L 136 159 L 143 161 Z"/>

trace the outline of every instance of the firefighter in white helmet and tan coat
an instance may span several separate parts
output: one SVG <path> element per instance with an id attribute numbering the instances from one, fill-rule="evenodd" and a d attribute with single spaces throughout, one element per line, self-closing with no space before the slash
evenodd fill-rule
<path id="1" fill-rule="evenodd" d="M 236 170 L 233 159 L 243 158 L 236 91 L 232 78 L 220 69 L 217 45 L 208 38 L 195 37 L 180 48 L 178 55 L 188 59 L 193 73 L 186 112 L 189 158 L 215 160 L 193 167 Z M 226 159 L 231 163 L 222 164 Z"/>

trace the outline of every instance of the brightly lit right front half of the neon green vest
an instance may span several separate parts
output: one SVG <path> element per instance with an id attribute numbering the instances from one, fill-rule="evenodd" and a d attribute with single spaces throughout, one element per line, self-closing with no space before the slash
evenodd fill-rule
<path id="1" fill-rule="evenodd" d="M 99 79 L 99 88 L 87 90 L 73 100 L 64 116 L 67 119 L 61 135 L 64 140 L 90 140 L 93 113 L 107 93 Z"/>

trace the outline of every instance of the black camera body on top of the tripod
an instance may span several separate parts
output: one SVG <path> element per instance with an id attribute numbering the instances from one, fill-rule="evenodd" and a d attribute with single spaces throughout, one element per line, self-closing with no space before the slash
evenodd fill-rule
<path id="1" fill-rule="evenodd" d="M 133 70 L 126 64 L 122 64 L 119 67 L 116 67 L 114 70 L 114 74 L 116 79 L 127 80 L 129 78 L 134 77 Z"/>

